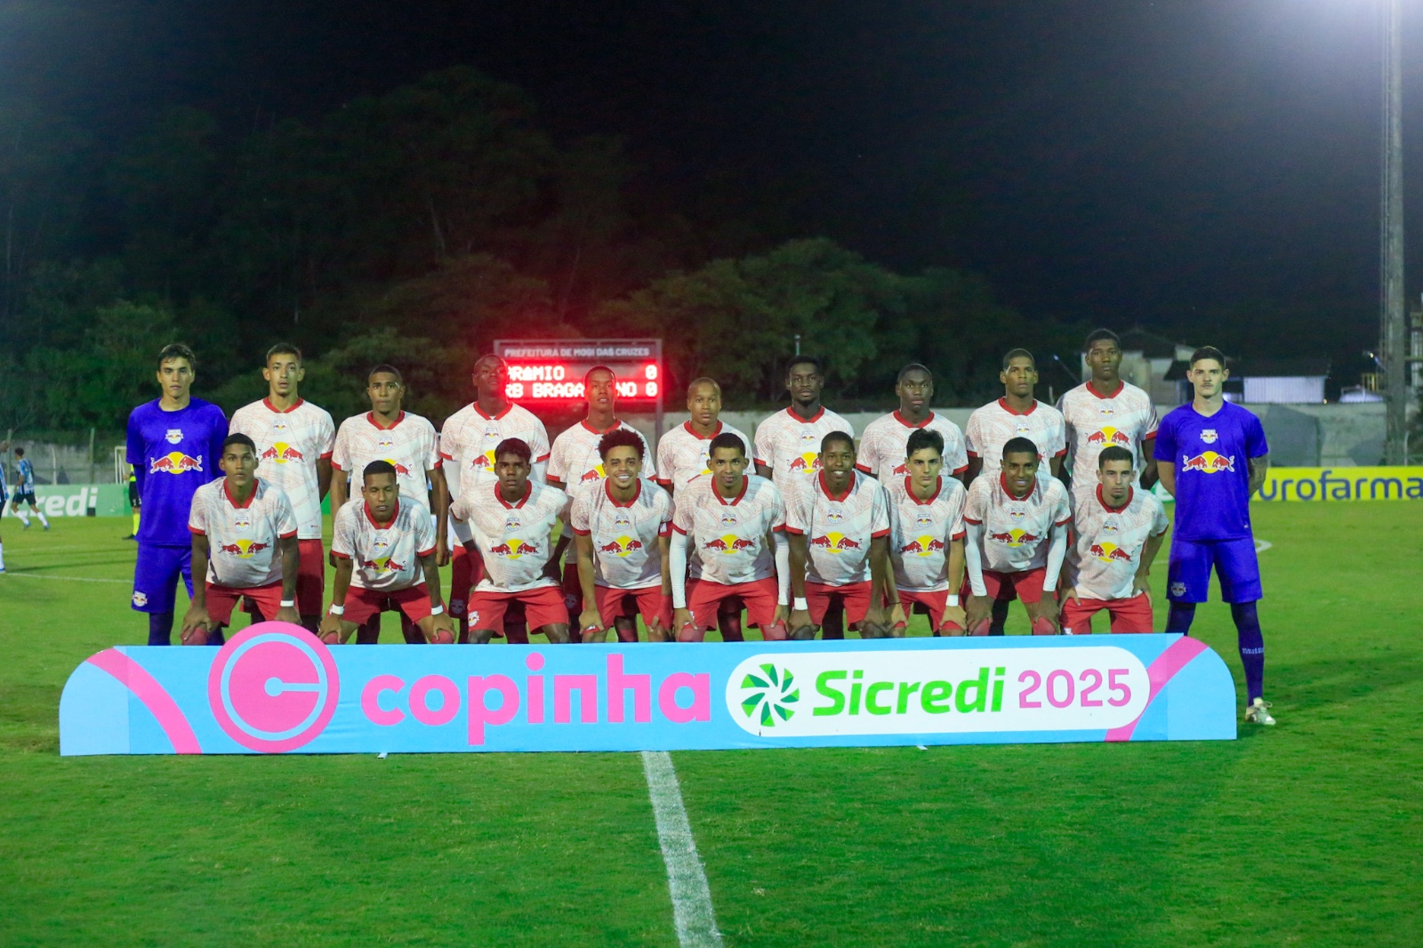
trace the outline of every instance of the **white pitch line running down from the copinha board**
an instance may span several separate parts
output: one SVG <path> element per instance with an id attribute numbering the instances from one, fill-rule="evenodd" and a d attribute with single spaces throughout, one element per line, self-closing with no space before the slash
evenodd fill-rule
<path id="1" fill-rule="evenodd" d="M 677 925 L 682 948 L 720 947 L 721 932 L 716 929 L 712 910 L 712 890 L 692 838 L 687 810 L 682 806 L 682 789 L 672 756 L 665 750 L 642 752 L 642 769 L 647 774 L 647 796 L 657 818 L 657 843 L 662 861 L 667 864 L 667 888 L 672 891 L 672 918 Z"/>

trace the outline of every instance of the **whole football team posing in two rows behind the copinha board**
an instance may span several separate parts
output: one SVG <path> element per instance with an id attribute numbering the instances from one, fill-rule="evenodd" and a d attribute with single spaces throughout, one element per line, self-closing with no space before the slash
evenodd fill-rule
<path id="1" fill-rule="evenodd" d="M 935 636 L 990 636 L 1015 599 L 1032 635 L 1190 633 L 1214 569 L 1245 720 L 1274 725 L 1249 521 L 1269 464 L 1261 421 L 1224 399 L 1217 349 L 1191 354 L 1194 399 L 1164 418 L 1120 377 L 1114 333 L 1090 333 L 1083 353 L 1091 377 L 1052 406 L 1035 397 L 1033 354 L 1007 352 L 1003 396 L 963 430 L 932 411 L 933 374 L 916 363 L 898 373 L 899 407 L 861 433 L 821 403 L 814 356 L 785 363 L 790 406 L 753 437 L 720 420 L 721 389 L 699 377 L 689 420 L 653 448 L 618 417 L 606 367 L 583 377 L 585 417 L 551 441 L 494 354 L 437 431 L 401 407 L 393 364 L 367 373 L 370 411 L 336 424 L 302 399 L 302 353 L 285 343 L 268 352 L 266 396 L 229 420 L 191 394 L 198 357 L 169 344 L 162 396 L 128 421 L 131 606 L 148 645 L 175 632 L 221 645 L 236 611 L 329 645 L 377 642 L 383 612 L 416 645 L 898 638 L 916 613 Z M 11 498 L 26 528 L 28 477 Z"/>

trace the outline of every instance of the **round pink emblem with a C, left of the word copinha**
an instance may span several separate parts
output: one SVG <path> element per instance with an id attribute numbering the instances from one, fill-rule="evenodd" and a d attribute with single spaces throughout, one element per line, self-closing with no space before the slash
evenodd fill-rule
<path id="1" fill-rule="evenodd" d="M 248 750 L 276 754 L 310 743 L 336 713 L 336 660 L 289 622 L 258 622 L 232 636 L 208 673 L 222 730 Z"/>

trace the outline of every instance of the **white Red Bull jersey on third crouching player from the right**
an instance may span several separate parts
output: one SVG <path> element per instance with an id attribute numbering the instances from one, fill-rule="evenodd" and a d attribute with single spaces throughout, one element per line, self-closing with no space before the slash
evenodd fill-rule
<path id="1" fill-rule="evenodd" d="M 929 500 L 909 490 L 909 478 L 891 481 L 889 562 L 895 586 L 905 592 L 942 592 L 949 588 L 949 541 L 963 539 L 963 505 L 968 490 L 952 477 L 939 477 Z"/>

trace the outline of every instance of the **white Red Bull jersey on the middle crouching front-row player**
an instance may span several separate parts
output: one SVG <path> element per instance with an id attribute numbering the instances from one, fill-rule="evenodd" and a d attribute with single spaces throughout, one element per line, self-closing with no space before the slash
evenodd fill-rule
<path id="1" fill-rule="evenodd" d="M 687 571 L 693 579 L 736 585 L 776 575 L 766 534 L 785 530 L 785 504 L 770 480 L 746 474 L 741 493 L 723 500 L 710 477 L 699 477 L 677 493 L 675 507 L 672 542 L 677 534 L 690 538 Z"/>

